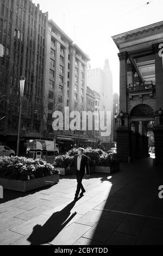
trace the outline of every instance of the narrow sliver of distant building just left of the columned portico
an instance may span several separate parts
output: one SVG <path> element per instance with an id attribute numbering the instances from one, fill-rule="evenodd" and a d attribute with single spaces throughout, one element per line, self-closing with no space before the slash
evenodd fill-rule
<path id="1" fill-rule="evenodd" d="M 116 141 L 116 128 L 117 128 L 117 117 L 120 113 L 120 99 L 118 93 L 113 94 L 113 115 L 114 115 L 114 122 L 113 122 L 113 141 Z"/>

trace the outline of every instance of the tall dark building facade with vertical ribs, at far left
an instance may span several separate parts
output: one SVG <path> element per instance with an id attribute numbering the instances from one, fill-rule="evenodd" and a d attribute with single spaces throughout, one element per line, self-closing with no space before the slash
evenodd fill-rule
<path id="1" fill-rule="evenodd" d="M 19 112 L 19 78 L 26 78 L 22 109 L 21 144 L 40 137 L 42 97 L 45 90 L 45 52 L 48 13 L 30 0 L 0 0 L 1 66 L 0 141 L 16 147 Z M 6 101 L 7 100 L 7 101 Z"/>

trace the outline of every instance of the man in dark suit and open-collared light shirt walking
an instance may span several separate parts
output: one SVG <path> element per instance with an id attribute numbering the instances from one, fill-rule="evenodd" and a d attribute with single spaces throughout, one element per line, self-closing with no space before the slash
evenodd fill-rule
<path id="1" fill-rule="evenodd" d="M 89 164 L 87 160 L 87 156 L 83 154 L 84 149 L 78 148 L 78 154 L 74 156 L 74 168 L 76 170 L 76 176 L 77 176 L 77 190 L 74 197 L 74 200 L 78 199 L 78 195 L 80 192 L 80 189 L 82 192 L 80 193 L 80 196 L 83 196 L 83 193 L 85 192 L 85 189 L 82 184 L 83 176 L 85 174 L 85 167 L 86 167 L 86 176 L 89 177 Z"/>

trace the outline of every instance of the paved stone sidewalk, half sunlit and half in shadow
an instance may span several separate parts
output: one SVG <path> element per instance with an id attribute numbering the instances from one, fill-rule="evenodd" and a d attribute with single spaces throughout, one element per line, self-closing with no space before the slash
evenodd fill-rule
<path id="1" fill-rule="evenodd" d="M 163 245 L 163 170 L 157 172 L 152 161 L 92 174 L 77 202 L 74 175 L 28 193 L 5 190 L 0 245 Z"/>

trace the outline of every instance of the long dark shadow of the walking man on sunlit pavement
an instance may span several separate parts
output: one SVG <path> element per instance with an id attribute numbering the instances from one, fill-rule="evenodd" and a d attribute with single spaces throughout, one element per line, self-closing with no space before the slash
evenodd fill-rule
<path id="1" fill-rule="evenodd" d="M 53 241 L 67 223 L 77 214 L 77 212 L 73 212 L 71 215 L 71 210 L 75 204 L 76 202 L 73 201 L 61 211 L 54 212 L 42 226 L 39 224 L 35 225 L 32 234 L 27 239 L 30 245 L 42 245 L 43 243 Z"/>

